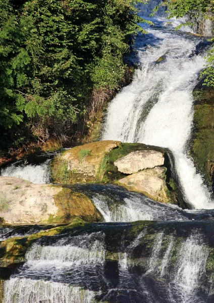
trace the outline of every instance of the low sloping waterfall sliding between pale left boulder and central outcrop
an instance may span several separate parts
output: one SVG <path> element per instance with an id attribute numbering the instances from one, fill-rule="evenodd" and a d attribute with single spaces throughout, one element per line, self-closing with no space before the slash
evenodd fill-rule
<path id="1" fill-rule="evenodd" d="M 115 185 L 75 185 L 89 196 L 105 222 L 138 220 L 198 220 L 214 218 L 214 211 L 184 211 L 176 205 L 151 200 L 142 193 L 130 192 Z"/>

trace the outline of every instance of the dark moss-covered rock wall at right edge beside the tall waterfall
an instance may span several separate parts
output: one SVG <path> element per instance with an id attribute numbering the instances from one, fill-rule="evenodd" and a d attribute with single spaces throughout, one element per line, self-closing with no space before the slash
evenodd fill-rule
<path id="1" fill-rule="evenodd" d="M 195 113 L 191 155 L 197 170 L 211 186 L 214 172 L 214 89 L 201 84 L 193 90 Z"/>

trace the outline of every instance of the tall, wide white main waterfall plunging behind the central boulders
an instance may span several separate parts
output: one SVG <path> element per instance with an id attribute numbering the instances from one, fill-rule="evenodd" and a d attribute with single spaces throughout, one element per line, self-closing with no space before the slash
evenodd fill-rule
<path id="1" fill-rule="evenodd" d="M 157 29 L 146 27 L 146 41 L 141 37 L 136 41 L 140 68 L 110 104 L 102 139 L 170 148 L 190 206 L 213 209 L 202 177 L 186 154 L 193 120 L 192 90 L 204 65 L 204 54 L 192 56 L 200 40 L 173 32 L 166 23 Z M 161 56 L 165 61 L 155 64 Z"/>

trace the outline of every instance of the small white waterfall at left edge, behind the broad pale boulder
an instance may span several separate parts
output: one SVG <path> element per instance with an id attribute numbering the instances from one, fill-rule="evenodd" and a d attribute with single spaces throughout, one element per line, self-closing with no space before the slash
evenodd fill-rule
<path id="1" fill-rule="evenodd" d="M 39 165 L 21 165 L 11 164 L 1 170 L 2 177 L 17 177 L 28 180 L 35 184 L 50 183 L 49 163 L 51 160 L 45 161 Z"/>

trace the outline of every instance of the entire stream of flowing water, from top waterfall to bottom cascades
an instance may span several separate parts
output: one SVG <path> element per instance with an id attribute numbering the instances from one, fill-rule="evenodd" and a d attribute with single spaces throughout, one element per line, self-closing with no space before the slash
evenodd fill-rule
<path id="1" fill-rule="evenodd" d="M 158 3 L 139 5 L 141 14 L 149 19 Z M 152 21 L 154 26 L 142 24 L 148 35 L 136 40 L 139 69 L 110 104 L 102 139 L 170 148 L 195 210 L 115 185 L 74 185 L 92 199 L 103 222 L 64 226 L 35 240 L 4 282 L 4 303 L 213 303 L 214 207 L 187 154 L 204 38 L 189 28 L 174 31 L 180 21 L 168 24 L 164 9 Z M 16 163 L 1 175 L 49 183 L 48 161 Z M 16 236 L 25 243 L 51 227 L 3 225 L 0 241 Z"/>

